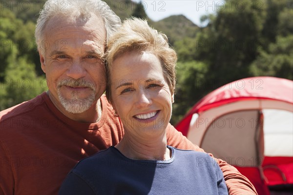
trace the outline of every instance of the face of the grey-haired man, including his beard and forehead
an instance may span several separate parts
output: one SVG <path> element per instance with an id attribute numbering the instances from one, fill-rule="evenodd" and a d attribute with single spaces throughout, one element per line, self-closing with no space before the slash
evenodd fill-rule
<path id="1" fill-rule="evenodd" d="M 40 59 L 59 110 L 83 113 L 105 92 L 105 39 L 104 21 L 95 15 L 86 22 L 54 16 L 47 23 Z"/>

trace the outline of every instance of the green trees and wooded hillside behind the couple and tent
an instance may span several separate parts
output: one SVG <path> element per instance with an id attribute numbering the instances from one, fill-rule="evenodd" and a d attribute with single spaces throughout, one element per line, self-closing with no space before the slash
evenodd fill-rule
<path id="1" fill-rule="evenodd" d="M 44 0 L 1 0 L 0 110 L 47 90 L 34 30 Z M 142 2 L 108 0 L 121 19 L 147 18 Z M 123 8 L 123 9 L 122 9 Z M 204 95 L 251 76 L 293 79 L 293 1 L 233 0 L 200 28 L 184 16 L 149 23 L 167 34 L 178 53 L 175 124 Z"/>

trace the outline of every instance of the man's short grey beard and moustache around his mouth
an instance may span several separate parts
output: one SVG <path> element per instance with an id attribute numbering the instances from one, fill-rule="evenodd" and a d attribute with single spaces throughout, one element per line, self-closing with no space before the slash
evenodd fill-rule
<path id="1" fill-rule="evenodd" d="M 70 99 L 66 99 L 62 96 L 61 88 L 63 85 L 71 86 L 71 87 L 89 87 L 92 89 L 91 94 L 84 99 L 80 98 L 79 92 L 72 92 L 70 95 Z M 95 89 L 92 83 L 87 82 L 85 80 L 75 80 L 75 79 L 68 79 L 68 80 L 61 80 L 58 82 L 57 87 L 58 97 L 64 109 L 73 114 L 83 113 L 88 110 L 93 102 L 95 101 Z"/>

